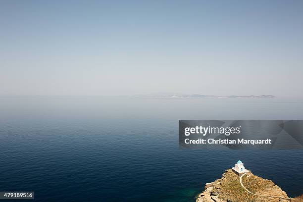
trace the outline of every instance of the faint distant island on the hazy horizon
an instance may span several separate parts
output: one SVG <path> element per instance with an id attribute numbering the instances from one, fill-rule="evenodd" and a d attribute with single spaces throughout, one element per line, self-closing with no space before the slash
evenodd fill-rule
<path id="1" fill-rule="evenodd" d="M 150 99 L 206 99 L 206 98 L 217 98 L 217 99 L 224 99 L 224 98 L 253 98 L 253 99 L 270 99 L 275 98 L 272 95 L 259 95 L 259 96 L 212 96 L 212 95 L 201 95 L 201 94 L 152 94 L 152 95 L 136 95 L 132 96 L 136 98 L 150 98 Z"/>

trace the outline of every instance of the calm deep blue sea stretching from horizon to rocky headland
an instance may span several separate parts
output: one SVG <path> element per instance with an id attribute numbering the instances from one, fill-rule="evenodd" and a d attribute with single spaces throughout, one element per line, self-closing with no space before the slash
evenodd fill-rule
<path id="1" fill-rule="evenodd" d="M 303 194 L 303 151 L 179 150 L 178 119 L 303 119 L 303 100 L 0 97 L 0 191 L 35 191 L 37 202 L 195 202 L 241 159 Z"/>

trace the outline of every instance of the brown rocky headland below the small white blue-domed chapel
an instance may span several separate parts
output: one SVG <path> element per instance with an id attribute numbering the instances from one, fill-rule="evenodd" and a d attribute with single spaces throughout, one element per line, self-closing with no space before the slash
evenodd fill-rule
<path id="1" fill-rule="evenodd" d="M 196 202 L 290 202 L 286 193 L 271 180 L 247 173 L 242 177 L 242 182 L 253 194 L 276 198 L 248 193 L 241 186 L 240 177 L 229 169 L 223 173 L 222 178 L 206 183 L 205 190 L 198 196 Z"/>

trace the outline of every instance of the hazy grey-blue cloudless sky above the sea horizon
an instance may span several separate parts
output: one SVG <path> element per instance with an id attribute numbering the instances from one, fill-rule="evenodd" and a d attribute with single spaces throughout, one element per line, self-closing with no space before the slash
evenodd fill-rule
<path id="1" fill-rule="evenodd" d="M 0 1 L 0 95 L 302 87 L 302 0 Z"/>

